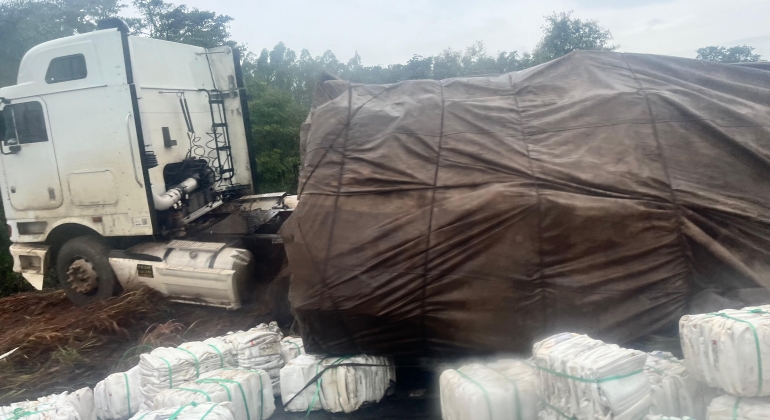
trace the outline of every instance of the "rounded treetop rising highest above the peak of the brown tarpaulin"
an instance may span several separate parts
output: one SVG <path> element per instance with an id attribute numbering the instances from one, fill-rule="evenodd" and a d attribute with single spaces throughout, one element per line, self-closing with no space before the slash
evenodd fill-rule
<path id="1" fill-rule="evenodd" d="M 615 51 L 610 44 L 612 34 L 595 20 L 572 17 L 572 12 L 553 13 L 545 17 L 543 38 L 532 52 L 535 64 L 544 63 L 575 50 Z"/>

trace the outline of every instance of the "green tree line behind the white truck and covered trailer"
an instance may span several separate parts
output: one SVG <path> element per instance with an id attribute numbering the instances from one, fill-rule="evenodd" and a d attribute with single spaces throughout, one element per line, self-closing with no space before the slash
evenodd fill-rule
<path id="1" fill-rule="evenodd" d="M 481 41 L 462 49 L 447 48 L 431 56 L 414 55 L 406 63 L 364 66 L 356 53 L 347 61 L 332 51 L 313 56 L 299 54 L 283 43 L 258 53 L 233 39 L 233 18 L 163 0 L 133 0 L 139 17 L 123 17 L 132 34 L 201 47 L 229 45 L 241 51 L 249 96 L 252 131 L 257 151 L 256 168 L 261 192 L 296 192 L 299 129 L 313 100 L 319 74 L 331 73 L 355 83 L 388 84 L 411 79 L 445 79 L 498 74 L 525 69 L 574 50 L 614 51 L 612 34 L 595 20 L 576 18 L 572 12 L 545 17 L 542 37 L 532 51 L 490 53 Z M 19 63 L 33 46 L 56 38 L 90 32 L 97 22 L 121 17 L 121 0 L 0 0 L 0 87 L 16 83 Z M 709 46 L 697 58 L 721 62 L 759 61 L 749 46 Z M 2 209 L 0 209 L 1 211 Z M 0 217 L 2 214 L 0 213 Z M 0 223 L 5 220 L 0 218 Z M 23 288 L 11 271 L 9 240 L 0 234 L 0 296 Z"/>

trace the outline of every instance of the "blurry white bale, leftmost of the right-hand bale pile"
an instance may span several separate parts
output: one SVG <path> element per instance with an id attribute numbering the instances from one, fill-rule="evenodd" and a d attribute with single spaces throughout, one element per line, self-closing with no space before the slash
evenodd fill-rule
<path id="1" fill-rule="evenodd" d="M 444 420 L 535 420 L 540 411 L 537 377 L 521 361 L 449 369 L 439 385 Z"/>

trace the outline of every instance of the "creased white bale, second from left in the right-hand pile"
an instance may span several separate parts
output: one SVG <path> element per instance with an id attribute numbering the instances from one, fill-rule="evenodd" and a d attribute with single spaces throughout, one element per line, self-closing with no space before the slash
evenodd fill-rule
<path id="1" fill-rule="evenodd" d="M 558 334 L 533 348 L 546 411 L 579 420 L 630 420 L 652 404 L 647 354 L 585 335 Z"/>

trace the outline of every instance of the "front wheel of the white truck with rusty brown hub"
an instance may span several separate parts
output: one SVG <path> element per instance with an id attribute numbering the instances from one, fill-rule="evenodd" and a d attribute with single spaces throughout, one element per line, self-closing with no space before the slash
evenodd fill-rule
<path id="1" fill-rule="evenodd" d="M 74 304 L 83 306 L 105 300 L 120 291 L 109 253 L 107 242 L 92 235 L 70 239 L 59 249 L 56 274 Z"/>

